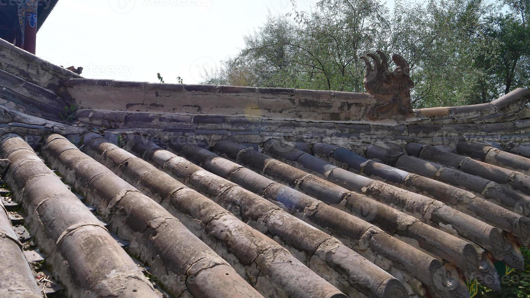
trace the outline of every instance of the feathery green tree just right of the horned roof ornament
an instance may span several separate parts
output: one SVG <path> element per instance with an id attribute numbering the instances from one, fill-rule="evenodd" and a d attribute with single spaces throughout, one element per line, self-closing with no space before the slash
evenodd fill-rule
<path id="1" fill-rule="evenodd" d="M 430 1 L 413 7 L 396 2 L 388 48 L 411 65 L 414 106 L 469 102 L 477 73 L 474 60 L 493 46 L 480 30 L 481 15 L 490 9 L 475 0 Z"/>

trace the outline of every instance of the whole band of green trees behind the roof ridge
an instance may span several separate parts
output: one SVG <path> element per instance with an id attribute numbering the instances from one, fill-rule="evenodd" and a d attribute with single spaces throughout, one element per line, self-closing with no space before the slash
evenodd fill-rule
<path id="1" fill-rule="evenodd" d="M 268 20 L 205 84 L 365 92 L 367 52 L 409 61 L 414 107 L 485 103 L 530 83 L 528 0 L 321 0 Z"/>

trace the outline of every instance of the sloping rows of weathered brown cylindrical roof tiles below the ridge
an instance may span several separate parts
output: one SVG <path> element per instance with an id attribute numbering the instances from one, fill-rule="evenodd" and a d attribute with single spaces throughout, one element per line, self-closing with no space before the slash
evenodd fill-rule
<path id="1" fill-rule="evenodd" d="M 109 230 L 172 296 L 467 297 L 464 279 L 500 288 L 493 261 L 524 266 L 530 160 L 513 153 L 170 144 L 130 136 L 122 149 L 89 133 L 82 152 L 46 139 L 43 155 L 107 228 L 21 138 L 0 139 L 6 181 L 70 296 L 156 296 Z"/>

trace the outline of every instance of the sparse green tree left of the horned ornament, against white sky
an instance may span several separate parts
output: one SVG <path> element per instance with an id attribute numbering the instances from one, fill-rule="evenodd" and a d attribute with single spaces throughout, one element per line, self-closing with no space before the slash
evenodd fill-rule
<path id="1" fill-rule="evenodd" d="M 225 61 L 224 71 L 205 83 L 362 92 L 359 57 L 378 46 L 387 8 L 377 0 L 324 0 L 311 13 L 293 9 L 270 15 L 245 37 L 240 54 Z"/>

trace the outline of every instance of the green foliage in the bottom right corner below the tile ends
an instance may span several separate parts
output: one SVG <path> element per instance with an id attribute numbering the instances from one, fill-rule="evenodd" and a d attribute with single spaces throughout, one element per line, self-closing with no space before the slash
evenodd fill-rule
<path id="1" fill-rule="evenodd" d="M 515 270 L 508 276 L 501 276 L 502 292 L 489 290 L 479 285 L 483 298 L 528 298 L 530 297 L 530 249 L 521 248 L 525 259 L 525 269 Z"/>

